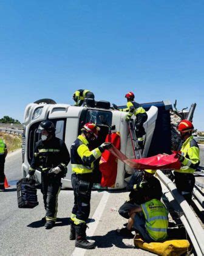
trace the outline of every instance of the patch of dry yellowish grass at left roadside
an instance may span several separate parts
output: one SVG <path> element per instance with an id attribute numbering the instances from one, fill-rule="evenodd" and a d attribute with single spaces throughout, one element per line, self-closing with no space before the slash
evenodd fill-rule
<path id="1" fill-rule="evenodd" d="M 0 138 L 4 140 L 5 144 L 7 144 L 8 152 L 21 148 L 21 136 L 0 132 Z"/>

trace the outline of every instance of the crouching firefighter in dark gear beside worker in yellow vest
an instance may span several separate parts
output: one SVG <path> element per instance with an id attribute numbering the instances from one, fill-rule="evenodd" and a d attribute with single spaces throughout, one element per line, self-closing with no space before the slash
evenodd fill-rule
<path id="1" fill-rule="evenodd" d="M 124 202 L 121 205 L 118 213 L 126 219 L 129 219 L 129 210 L 134 208 L 137 205 L 143 204 L 144 200 L 144 189 L 146 185 L 154 191 L 154 197 L 158 200 L 161 199 L 161 184 L 159 180 L 154 177 L 156 170 L 153 169 L 144 169 L 144 171 L 134 171 L 132 174 L 131 180 L 127 184 L 127 190 L 131 191 L 129 194 L 129 200 Z M 127 227 L 123 229 L 117 230 L 119 235 L 129 236 L 132 237 L 131 230 L 128 230 Z"/>

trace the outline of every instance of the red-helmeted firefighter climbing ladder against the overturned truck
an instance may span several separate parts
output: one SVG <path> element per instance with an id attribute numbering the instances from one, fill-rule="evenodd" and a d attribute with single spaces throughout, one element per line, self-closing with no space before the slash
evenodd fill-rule
<path id="1" fill-rule="evenodd" d="M 127 107 L 126 108 L 118 108 L 117 105 L 112 104 L 115 109 L 118 109 L 123 112 L 128 112 L 126 116 L 126 121 L 129 121 L 132 115 L 135 115 L 135 128 L 136 128 L 136 136 L 138 140 L 139 149 L 143 149 L 144 147 L 144 138 L 143 136 L 146 134 L 143 124 L 147 121 L 148 115 L 143 107 L 140 104 L 134 101 L 135 95 L 132 91 L 129 91 L 125 95 L 127 99 Z"/>

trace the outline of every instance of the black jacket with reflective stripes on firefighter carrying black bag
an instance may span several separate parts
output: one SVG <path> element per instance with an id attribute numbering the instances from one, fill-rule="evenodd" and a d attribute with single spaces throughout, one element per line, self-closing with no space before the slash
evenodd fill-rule
<path id="1" fill-rule="evenodd" d="M 35 169 L 41 172 L 48 172 L 51 168 L 58 166 L 63 177 L 66 174 L 69 162 L 69 151 L 63 140 L 57 137 L 52 137 L 49 141 L 39 140 L 35 146 L 29 174 L 33 175 Z"/>

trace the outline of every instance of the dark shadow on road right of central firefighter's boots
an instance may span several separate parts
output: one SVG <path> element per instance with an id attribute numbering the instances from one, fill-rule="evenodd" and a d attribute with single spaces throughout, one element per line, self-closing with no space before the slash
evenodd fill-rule
<path id="1" fill-rule="evenodd" d="M 95 240 L 95 244 L 97 245 L 98 248 L 109 248 L 112 246 L 116 246 L 118 248 L 123 248 L 123 249 L 130 249 L 130 248 L 135 248 L 131 244 L 124 244 L 123 243 L 123 236 L 117 235 L 115 230 L 111 230 L 107 232 L 106 235 L 99 235 L 99 236 L 89 236 L 87 237 L 90 240 Z"/>

